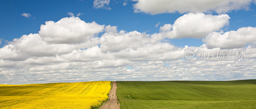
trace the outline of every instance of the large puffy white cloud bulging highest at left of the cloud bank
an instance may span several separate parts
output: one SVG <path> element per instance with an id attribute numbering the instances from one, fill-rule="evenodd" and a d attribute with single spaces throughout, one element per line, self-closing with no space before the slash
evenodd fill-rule
<path id="1" fill-rule="evenodd" d="M 104 25 L 86 23 L 78 17 L 46 21 L 39 34 L 48 43 L 83 43 L 104 30 Z"/>

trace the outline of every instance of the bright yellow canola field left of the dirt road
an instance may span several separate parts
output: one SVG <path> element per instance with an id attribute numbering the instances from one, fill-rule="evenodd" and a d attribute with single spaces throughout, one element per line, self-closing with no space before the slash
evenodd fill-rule
<path id="1" fill-rule="evenodd" d="M 83 108 L 108 99 L 110 81 L 0 85 L 0 108 Z"/>

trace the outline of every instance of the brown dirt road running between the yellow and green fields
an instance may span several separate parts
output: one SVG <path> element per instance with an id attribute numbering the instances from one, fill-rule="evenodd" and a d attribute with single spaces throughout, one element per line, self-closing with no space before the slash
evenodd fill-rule
<path id="1" fill-rule="evenodd" d="M 109 100 L 106 104 L 102 105 L 100 109 L 120 109 L 120 103 L 117 101 L 116 97 L 116 82 L 113 82 L 113 87 L 109 92 Z"/>

